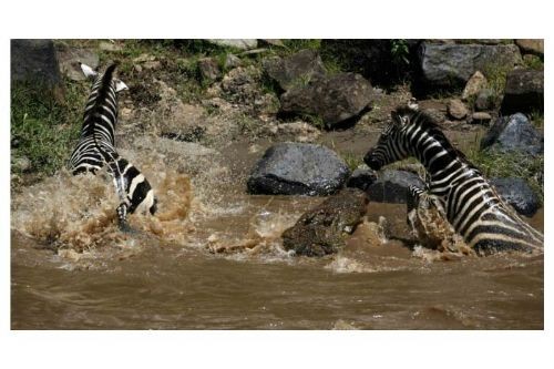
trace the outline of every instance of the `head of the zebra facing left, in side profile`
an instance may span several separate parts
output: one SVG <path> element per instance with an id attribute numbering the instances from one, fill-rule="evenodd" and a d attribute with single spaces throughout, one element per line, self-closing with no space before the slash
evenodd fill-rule
<path id="1" fill-rule="evenodd" d="M 392 122 L 381 132 L 377 145 L 363 157 L 370 168 L 379 171 L 384 165 L 411 156 L 406 131 L 418 113 L 417 109 L 417 104 L 408 104 L 390 113 Z"/>

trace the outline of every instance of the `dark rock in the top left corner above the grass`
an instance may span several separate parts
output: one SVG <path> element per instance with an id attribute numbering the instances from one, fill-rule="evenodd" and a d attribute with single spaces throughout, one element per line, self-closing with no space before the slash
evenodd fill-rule
<path id="1" fill-rule="evenodd" d="M 61 86 L 58 55 L 52 40 L 11 40 L 11 81 Z"/>

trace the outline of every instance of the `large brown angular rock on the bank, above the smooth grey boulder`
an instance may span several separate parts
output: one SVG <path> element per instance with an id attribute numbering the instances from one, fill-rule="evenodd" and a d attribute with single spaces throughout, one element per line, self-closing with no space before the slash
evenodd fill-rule
<path id="1" fill-rule="evenodd" d="M 280 96 L 281 112 L 318 116 L 327 127 L 356 117 L 371 101 L 371 84 L 355 73 L 317 79 Z"/>

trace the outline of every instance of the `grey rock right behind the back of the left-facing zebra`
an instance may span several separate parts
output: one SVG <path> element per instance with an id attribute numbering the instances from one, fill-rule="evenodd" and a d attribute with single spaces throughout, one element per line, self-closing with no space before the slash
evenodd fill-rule
<path id="1" fill-rule="evenodd" d="M 499 195 L 514 209 L 525 216 L 535 215 L 538 211 L 538 197 L 523 178 L 492 178 L 491 183 L 496 187 Z"/>

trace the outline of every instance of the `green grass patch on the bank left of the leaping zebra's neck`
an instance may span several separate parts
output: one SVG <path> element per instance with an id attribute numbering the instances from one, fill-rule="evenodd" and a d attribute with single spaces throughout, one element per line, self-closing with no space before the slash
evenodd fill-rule
<path id="1" fill-rule="evenodd" d="M 39 176 L 51 175 L 64 166 L 79 137 L 85 95 L 81 84 L 70 82 L 65 82 L 64 101 L 38 84 L 12 85 L 12 156 L 29 158 L 30 171 Z"/>

